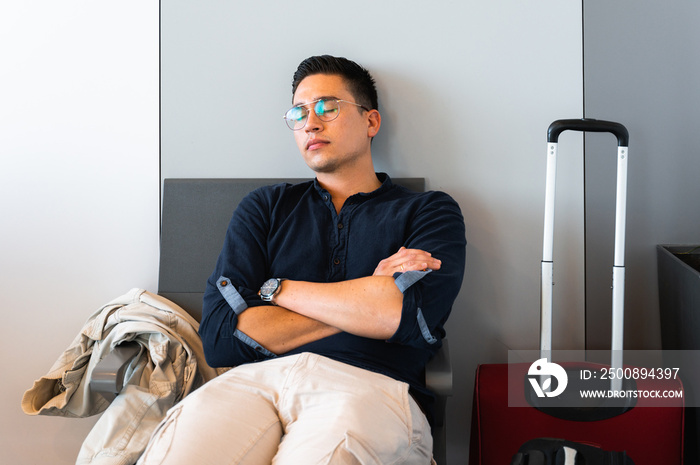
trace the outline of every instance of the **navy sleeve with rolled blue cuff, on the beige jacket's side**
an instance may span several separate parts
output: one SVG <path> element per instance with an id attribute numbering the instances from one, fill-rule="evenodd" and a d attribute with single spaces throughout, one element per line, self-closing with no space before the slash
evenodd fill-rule
<path id="1" fill-rule="evenodd" d="M 229 223 L 215 269 L 207 280 L 199 334 L 210 366 L 236 366 L 274 356 L 236 329 L 241 312 L 264 304 L 257 289 L 266 279 L 267 208 L 261 191 L 254 191 L 241 201 Z"/>

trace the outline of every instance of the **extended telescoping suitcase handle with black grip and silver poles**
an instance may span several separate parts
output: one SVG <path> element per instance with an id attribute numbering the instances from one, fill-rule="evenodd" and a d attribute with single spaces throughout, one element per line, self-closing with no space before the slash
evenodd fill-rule
<path id="1" fill-rule="evenodd" d="M 554 286 L 554 193 L 559 135 L 564 131 L 610 132 L 617 137 L 617 194 L 615 206 L 615 259 L 613 262 L 612 368 L 622 368 L 625 303 L 625 220 L 629 133 L 620 123 L 594 119 L 557 120 L 547 130 L 544 242 L 542 247 L 540 352 L 549 359 L 552 350 L 552 294 Z"/>

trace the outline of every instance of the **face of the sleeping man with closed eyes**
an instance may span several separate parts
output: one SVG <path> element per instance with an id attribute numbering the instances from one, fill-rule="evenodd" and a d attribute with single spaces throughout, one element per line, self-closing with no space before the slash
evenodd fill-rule
<path id="1" fill-rule="evenodd" d="M 320 98 L 355 102 L 341 76 L 314 74 L 297 86 L 294 105 Z M 338 117 L 333 121 L 321 121 L 310 110 L 306 126 L 294 131 L 294 137 L 309 168 L 317 173 L 338 172 L 351 168 L 364 157 L 371 159 L 370 142 L 379 129 L 378 119 L 376 110 L 365 111 L 341 102 Z"/>

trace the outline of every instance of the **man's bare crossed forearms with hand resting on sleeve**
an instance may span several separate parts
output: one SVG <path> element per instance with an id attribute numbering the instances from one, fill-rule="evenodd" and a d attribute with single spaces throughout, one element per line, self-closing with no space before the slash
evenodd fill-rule
<path id="1" fill-rule="evenodd" d="M 397 270 L 438 270 L 429 252 L 401 248 L 382 260 L 372 276 L 337 283 L 285 280 L 277 306 L 252 307 L 238 317 L 238 329 L 275 354 L 341 331 L 389 339 L 399 327 L 403 294 Z"/>

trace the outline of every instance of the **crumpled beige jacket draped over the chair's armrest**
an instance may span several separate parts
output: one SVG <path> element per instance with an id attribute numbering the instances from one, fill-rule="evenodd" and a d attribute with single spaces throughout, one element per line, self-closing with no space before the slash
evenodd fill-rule
<path id="1" fill-rule="evenodd" d="M 174 303 L 132 289 L 88 318 L 49 373 L 25 392 L 22 410 L 68 417 L 104 411 L 76 463 L 133 464 L 167 410 L 217 375 L 204 361 L 198 328 L 197 321 Z M 97 362 L 125 341 L 136 341 L 141 351 L 127 370 L 124 389 L 110 405 L 90 391 L 88 381 Z"/>

